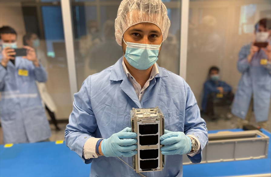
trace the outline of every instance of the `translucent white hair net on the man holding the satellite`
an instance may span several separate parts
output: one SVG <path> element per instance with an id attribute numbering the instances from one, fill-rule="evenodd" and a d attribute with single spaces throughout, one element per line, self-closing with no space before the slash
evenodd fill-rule
<path id="1" fill-rule="evenodd" d="M 167 38 L 170 20 L 161 0 L 123 0 L 115 20 L 117 43 L 121 45 L 122 36 L 129 27 L 142 22 L 154 23 L 160 28 L 163 41 Z"/>

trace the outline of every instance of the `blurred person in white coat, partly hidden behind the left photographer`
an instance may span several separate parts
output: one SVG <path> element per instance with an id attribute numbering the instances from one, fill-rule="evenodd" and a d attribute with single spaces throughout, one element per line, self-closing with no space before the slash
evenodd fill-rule
<path id="1" fill-rule="evenodd" d="M 23 43 L 24 45 L 28 45 L 35 49 L 38 60 L 41 62 L 41 64 L 44 66 L 45 70 L 47 71 L 48 62 L 47 62 L 47 58 L 44 52 L 39 49 L 40 40 L 38 38 L 38 35 L 31 32 L 26 33 L 26 35 L 24 35 L 23 37 Z M 38 86 L 38 91 L 41 95 L 41 100 L 45 106 L 45 109 L 48 112 L 49 116 L 51 117 L 51 120 L 55 125 L 55 129 L 59 131 L 60 128 L 58 127 L 57 121 L 55 119 L 55 111 L 56 111 L 55 103 L 52 97 L 49 95 L 44 82 L 37 82 L 37 86 Z"/>

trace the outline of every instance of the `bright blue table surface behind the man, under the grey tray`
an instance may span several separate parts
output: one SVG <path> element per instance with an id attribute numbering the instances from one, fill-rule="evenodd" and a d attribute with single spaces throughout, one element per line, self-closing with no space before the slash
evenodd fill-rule
<path id="1" fill-rule="evenodd" d="M 209 131 L 216 133 L 218 131 Z M 229 131 L 241 131 L 240 129 Z M 263 130 L 270 137 L 270 133 Z M 269 139 L 270 142 L 270 139 Z M 223 153 L 223 152 L 222 152 Z M 224 177 L 271 173 L 271 143 L 268 158 L 183 165 L 183 177 Z M 0 177 L 88 177 L 91 164 L 84 164 L 66 145 L 55 142 L 0 145 Z"/>

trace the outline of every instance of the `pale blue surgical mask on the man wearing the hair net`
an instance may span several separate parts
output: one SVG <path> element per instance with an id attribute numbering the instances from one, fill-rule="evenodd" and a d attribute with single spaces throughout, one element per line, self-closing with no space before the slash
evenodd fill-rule
<path id="1" fill-rule="evenodd" d="M 131 66 L 139 70 L 150 68 L 158 60 L 159 48 L 162 45 L 162 43 L 160 45 L 150 45 L 133 42 L 126 43 L 125 41 L 124 43 L 126 44 L 124 57 Z"/>

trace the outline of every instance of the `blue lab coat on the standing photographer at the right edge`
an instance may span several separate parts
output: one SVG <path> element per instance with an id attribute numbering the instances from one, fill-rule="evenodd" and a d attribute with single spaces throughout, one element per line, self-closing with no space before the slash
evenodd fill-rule
<path id="1" fill-rule="evenodd" d="M 261 65 L 262 59 L 267 59 L 263 50 L 253 55 L 250 63 L 247 55 L 250 53 L 251 44 L 244 45 L 239 52 L 237 62 L 238 71 L 242 77 L 238 84 L 233 100 L 232 113 L 245 119 L 251 97 L 253 95 L 253 110 L 257 122 L 267 121 L 271 95 L 271 66 Z"/>

